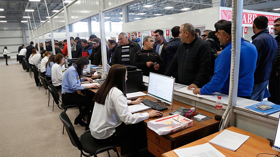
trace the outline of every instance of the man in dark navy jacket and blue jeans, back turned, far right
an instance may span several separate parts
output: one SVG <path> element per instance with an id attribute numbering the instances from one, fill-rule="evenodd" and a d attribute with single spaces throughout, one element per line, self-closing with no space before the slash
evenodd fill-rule
<path id="1" fill-rule="evenodd" d="M 270 35 L 267 29 L 268 19 L 265 16 L 258 16 L 253 21 L 252 44 L 258 51 L 256 70 L 254 73 L 254 87 L 251 100 L 262 101 L 265 90 L 267 90 L 270 77 L 272 61 L 277 51 L 277 42 Z"/>

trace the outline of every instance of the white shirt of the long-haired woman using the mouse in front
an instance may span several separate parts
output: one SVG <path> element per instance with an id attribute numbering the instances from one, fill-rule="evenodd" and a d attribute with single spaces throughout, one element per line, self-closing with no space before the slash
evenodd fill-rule
<path id="1" fill-rule="evenodd" d="M 92 115 L 89 128 L 97 139 L 110 137 L 122 122 L 135 124 L 149 118 L 147 112 L 131 114 L 125 95 L 116 87 L 110 90 L 104 105 L 95 102 Z"/>

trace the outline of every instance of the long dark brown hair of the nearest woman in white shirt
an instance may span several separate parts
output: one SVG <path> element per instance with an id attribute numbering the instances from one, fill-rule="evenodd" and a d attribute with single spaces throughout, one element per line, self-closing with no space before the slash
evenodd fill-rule
<path id="1" fill-rule="evenodd" d="M 112 87 L 117 87 L 126 95 L 126 67 L 124 65 L 115 64 L 111 66 L 105 82 L 95 94 L 93 100 L 104 105 L 105 99 Z"/>

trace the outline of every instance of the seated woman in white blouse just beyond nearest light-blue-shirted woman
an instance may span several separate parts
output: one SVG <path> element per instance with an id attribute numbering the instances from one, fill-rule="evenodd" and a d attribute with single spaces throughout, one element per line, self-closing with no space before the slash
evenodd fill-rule
<path id="1" fill-rule="evenodd" d="M 52 66 L 52 84 L 57 90 L 61 90 L 62 77 L 64 74 L 64 56 L 57 54 L 55 57 L 55 64 Z"/>

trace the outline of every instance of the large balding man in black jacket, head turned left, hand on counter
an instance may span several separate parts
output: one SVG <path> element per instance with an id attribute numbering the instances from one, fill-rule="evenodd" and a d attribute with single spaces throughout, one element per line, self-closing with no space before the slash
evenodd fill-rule
<path id="1" fill-rule="evenodd" d="M 178 83 L 188 85 L 188 90 L 201 88 L 210 77 L 211 47 L 197 37 L 190 23 L 181 26 L 180 37 L 182 43 L 164 75 L 172 76 L 178 70 Z"/>

